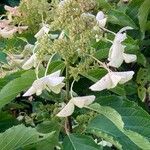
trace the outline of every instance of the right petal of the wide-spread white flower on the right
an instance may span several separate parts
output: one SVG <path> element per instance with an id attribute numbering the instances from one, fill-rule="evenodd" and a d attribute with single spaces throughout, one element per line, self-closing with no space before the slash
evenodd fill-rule
<path id="1" fill-rule="evenodd" d="M 134 72 L 133 71 L 126 71 L 126 72 L 114 72 L 115 75 L 120 76 L 121 80 L 119 81 L 120 84 L 124 84 L 125 82 L 132 79 Z"/>

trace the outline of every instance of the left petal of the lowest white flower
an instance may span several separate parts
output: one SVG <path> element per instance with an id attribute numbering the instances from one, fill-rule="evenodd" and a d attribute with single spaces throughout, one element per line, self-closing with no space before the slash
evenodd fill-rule
<path id="1" fill-rule="evenodd" d="M 56 115 L 58 117 L 68 117 L 74 112 L 74 104 L 69 101 L 69 103 Z"/>

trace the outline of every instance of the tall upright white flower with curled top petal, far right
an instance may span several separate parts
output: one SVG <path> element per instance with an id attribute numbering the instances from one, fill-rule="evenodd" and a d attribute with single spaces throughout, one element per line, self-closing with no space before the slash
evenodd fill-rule
<path id="1" fill-rule="evenodd" d="M 136 61 L 137 57 L 133 54 L 126 54 L 124 53 L 125 46 L 122 44 L 122 42 L 127 38 L 126 33 L 122 33 L 125 30 L 132 29 L 131 27 L 124 27 L 122 28 L 115 36 L 115 39 L 113 41 L 113 45 L 110 48 L 108 60 L 110 61 L 108 63 L 109 66 L 112 67 L 120 67 L 123 61 L 126 63 L 131 63 Z"/>

